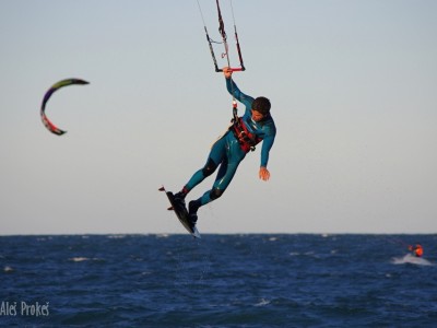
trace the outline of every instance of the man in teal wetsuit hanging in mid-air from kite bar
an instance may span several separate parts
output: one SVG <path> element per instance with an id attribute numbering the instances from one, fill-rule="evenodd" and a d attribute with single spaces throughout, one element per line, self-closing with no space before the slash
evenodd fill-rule
<path id="1" fill-rule="evenodd" d="M 223 73 L 227 91 L 246 106 L 243 117 L 234 117 L 232 126 L 211 148 L 205 165 L 197 171 L 184 188 L 175 195 L 175 199 L 185 204 L 185 198 L 197 185 L 215 172 L 220 166 L 212 189 L 188 204 L 190 220 L 196 224 L 200 207 L 217 199 L 229 186 L 239 163 L 257 143 L 262 141 L 260 179 L 267 181 L 270 172 L 267 168 L 269 153 L 273 145 L 276 128 L 270 115 L 270 101 L 265 97 L 253 98 L 244 94 L 232 80 L 233 70 L 225 67 Z"/>

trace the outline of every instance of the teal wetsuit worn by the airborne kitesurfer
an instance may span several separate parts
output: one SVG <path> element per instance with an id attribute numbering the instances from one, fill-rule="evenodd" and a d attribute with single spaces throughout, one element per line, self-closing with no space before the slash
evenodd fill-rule
<path id="1" fill-rule="evenodd" d="M 234 93 L 234 96 L 237 101 L 246 106 L 245 114 L 241 119 L 247 130 L 256 136 L 258 140 L 262 140 L 261 166 L 267 167 L 269 162 L 269 152 L 273 145 L 276 134 L 276 128 L 273 118 L 269 114 L 261 121 L 252 120 L 251 108 L 253 97 L 244 94 L 232 79 L 226 79 L 226 87 L 231 94 Z M 247 151 L 241 148 L 240 142 L 234 136 L 232 129 L 229 129 L 213 144 L 208 156 L 206 164 L 193 174 L 191 179 L 184 188 L 186 192 L 190 191 L 205 177 L 214 173 L 220 166 L 213 188 L 208 190 L 202 197 L 196 200 L 197 207 L 204 206 L 222 196 L 222 194 L 231 184 L 239 163 L 245 159 L 246 153 Z"/>

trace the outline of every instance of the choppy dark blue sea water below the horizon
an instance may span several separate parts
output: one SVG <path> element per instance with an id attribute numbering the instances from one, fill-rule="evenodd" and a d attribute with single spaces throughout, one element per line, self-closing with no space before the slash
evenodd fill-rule
<path id="1" fill-rule="evenodd" d="M 408 255 L 422 243 L 424 258 Z M 1 327 L 436 327 L 436 235 L 0 237 Z"/>

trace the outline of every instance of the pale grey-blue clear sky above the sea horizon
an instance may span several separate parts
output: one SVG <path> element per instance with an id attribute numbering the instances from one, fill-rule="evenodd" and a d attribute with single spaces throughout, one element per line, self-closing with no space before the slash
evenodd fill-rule
<path id="1" fill-rule="evenodd" d="M 270 98 L 277 134 L 271 179 L 258 147 L 199 231 L 436 233 L 437 1 L 221 3 L 234 80 Z M 232 116 L 196 0 L 0 0 L 0 235 L 186 233 L 157 190 L 180 190 Z M 91 84 L 50 98 L 58 137 L 39 106 L 67 78 Z"/>

